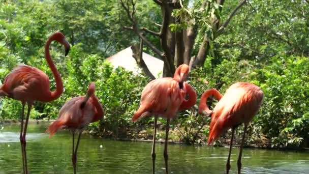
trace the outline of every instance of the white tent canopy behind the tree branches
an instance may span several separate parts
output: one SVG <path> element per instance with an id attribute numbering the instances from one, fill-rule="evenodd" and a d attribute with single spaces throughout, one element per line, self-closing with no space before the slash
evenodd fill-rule
<path id="1" fill-rule="evenodd" d="M 128 71 L 132 71 L 135 74 L 141 73 L 142 70 L 138 67 L 132 55 L 132 49 L 131 47 L 128 47 L 108 57 L 106 61 L 110 62 L 115 68 L 120 66 Z M 143 60 L 154 77 L 162 77 L 163 61 L 145 52 L 143 52 Z"/>

